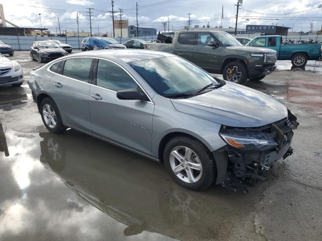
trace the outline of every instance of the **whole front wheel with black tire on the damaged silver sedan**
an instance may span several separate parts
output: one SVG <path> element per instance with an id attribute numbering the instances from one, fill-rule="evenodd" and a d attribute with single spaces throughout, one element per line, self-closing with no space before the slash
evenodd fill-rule
<path id="1" fill-rule="evenodd" d="M 217 176 L 215 160 L 207 147 L 186 136 L 173 138 L 167 143 L 164 163 L 172 179 L 191 190 L 206 189 Z"/>

